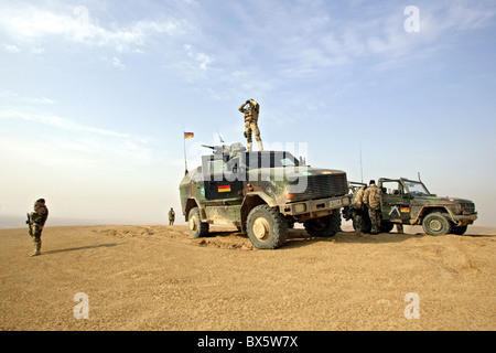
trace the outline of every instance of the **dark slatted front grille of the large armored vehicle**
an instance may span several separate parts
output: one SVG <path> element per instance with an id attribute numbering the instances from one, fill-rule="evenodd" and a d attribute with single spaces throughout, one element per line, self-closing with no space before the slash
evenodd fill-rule
<path id="1" fill-rule="evenodd" d="M 348 189 L 345 173 L 309 175 L 306 178 L 305 191 L 294 194 L 293 201 L 344 195 L 347 193 L 347 190 Z"/>

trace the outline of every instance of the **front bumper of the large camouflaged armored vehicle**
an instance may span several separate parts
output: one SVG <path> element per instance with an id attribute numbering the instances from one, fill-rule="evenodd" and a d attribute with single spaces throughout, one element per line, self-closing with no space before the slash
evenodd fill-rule
<path id="1" fill-rule="evenodd" d="M 322 217 L 331 214 L 334 210 L 348 206 L 351 204 L 351 196 L 336 196 L 328 199 L 308 200 L 294 203 L 287 203 L 279 205 L 279 211 L 283 215 L 302 216 L 308 218 Z"/>

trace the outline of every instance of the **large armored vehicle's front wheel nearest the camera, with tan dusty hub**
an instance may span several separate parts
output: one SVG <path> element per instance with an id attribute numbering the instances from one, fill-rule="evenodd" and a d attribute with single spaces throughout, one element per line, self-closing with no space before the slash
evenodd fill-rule
<path id="1" fill-rule="evenodd" d="M 278 207 L 258 205 L 246 220 L 246 229 L 251 244 L 258 249 L 274 249 L 288 238 L 288 223 Z"/>

